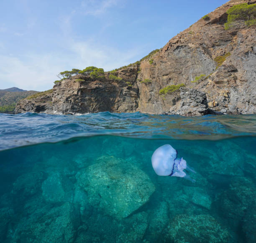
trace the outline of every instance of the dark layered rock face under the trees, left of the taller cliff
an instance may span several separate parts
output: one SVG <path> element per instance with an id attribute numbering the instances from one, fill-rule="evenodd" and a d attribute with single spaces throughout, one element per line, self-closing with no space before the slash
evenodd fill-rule
<path id="1" fill-rule="evenodd" d="M 64 80 L 53 88 L 52 102 L 56 113 L 135 112 L 138 103 L 137 86 L 131 68 L 128 76 L 131 86 L 124 81 L 91 80 L 76 82 L 76 78 Z M 128 81 L 127 81 L 128 82 Z M 134 84 L 133 84 L 134 83 Z"/>

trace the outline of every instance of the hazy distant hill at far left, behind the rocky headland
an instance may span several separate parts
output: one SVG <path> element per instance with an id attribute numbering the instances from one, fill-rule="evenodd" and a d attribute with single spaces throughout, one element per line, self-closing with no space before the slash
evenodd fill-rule
<path id="1" fill-rule="evenodd" d="M 21 90 L 16 87 L 0 90 L 0 113 L 14 114 L 15 105 L 19 100 L 37 92 L 33 90 Z"/>

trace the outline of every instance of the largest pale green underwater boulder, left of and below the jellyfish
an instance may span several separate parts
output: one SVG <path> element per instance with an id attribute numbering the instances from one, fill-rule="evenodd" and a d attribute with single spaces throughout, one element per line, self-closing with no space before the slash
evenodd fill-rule
<path id="1" fill-rule="evenodd" d="M 146 203 L 155 187 L 137 166 L 113 156 L 102 156 L 96 164 L 77 174 L 88 200 L 108 215 L 124 218 Z"/>

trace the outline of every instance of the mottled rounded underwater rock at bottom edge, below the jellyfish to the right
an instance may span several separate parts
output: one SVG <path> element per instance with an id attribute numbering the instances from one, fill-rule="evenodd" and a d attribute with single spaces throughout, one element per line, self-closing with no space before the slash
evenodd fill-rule
<path id="1" fill-rule="evenodd" d="M 230 234 L 210 215 L 178 215 L 164 232 L 164 242 L 226 243 Z"/>

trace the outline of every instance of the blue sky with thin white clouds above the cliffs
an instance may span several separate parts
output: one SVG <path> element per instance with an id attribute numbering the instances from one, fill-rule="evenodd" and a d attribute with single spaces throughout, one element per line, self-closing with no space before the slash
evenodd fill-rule
<path id="1" fill-rule="evenodd" d="M 0 89 L 44 91 L 65 70 L 138 61 L 227 0 L 0 2 Z"/>

